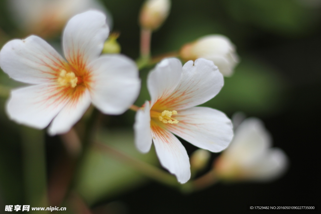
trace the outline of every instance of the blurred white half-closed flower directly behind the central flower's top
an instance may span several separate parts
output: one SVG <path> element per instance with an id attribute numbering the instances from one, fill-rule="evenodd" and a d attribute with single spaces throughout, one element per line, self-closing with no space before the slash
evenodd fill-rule
<path id="1" fill-rule="evenodd" d="M 181 48 L 180 56 L 184 60 L 198 58 L 211 60 L 226 77 L 233 74 L 239 62 L 235 46 L 230 39 L 222 35 L 208 35 L 188 43 Z"/>

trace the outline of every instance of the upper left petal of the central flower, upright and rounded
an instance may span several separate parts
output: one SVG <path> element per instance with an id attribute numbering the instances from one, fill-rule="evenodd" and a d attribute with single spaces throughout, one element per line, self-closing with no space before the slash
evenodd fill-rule
<path id="1" fill-rule="evenodd" d="M 166 98 L 177 86 L 182 75 L 182 63 L 176 58 L 162 60 L 149 73 L 147 88 L 151 95 L 151 106 Z"/>

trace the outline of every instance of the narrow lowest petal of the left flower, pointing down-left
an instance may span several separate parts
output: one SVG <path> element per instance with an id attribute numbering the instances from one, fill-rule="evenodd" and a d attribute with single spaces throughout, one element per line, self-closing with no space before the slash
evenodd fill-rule
<path id="1" fill-rule="evenodd" d="M 50 135 L 68 132 L 90 106 L 91 98 L 88 89 L 79 93 L 79 95 L 74 94 L 73 99 L 54 118 L 48 129 Z"/>

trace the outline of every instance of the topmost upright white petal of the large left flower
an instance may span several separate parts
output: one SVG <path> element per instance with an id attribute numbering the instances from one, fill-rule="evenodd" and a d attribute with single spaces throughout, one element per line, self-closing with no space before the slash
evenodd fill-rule
<path id="1" fill-rule="evenodd" d="M 87 11 L 75 15 L 64 30 L 63 47 L 67 61 L 75 68 L 83 69 L 101 54 L 108 33 L 103 13 Z"/>

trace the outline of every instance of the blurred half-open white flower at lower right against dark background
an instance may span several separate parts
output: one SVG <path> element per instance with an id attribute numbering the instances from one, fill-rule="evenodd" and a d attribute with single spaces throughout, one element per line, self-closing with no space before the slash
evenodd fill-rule
<path id="1" fill-rule="evenodd" d="M 215 163 L 221 179 L 269 181 L 287 167 L 287 156 L 271 147 L 271 136 L 257 118 L 244 120 L 237 128 L 230 146 Z"/>

